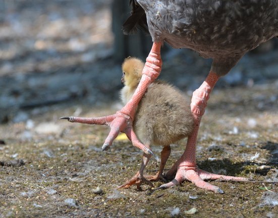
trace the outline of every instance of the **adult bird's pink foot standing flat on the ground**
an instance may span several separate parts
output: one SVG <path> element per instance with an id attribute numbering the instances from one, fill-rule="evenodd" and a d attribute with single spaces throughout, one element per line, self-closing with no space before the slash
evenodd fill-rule
<path id="1" fill-rule="evenodd" d="M 177 170 L 176 177 L 170 183 L 163 184 L 156 189 L 166 189 L 172 186 L 181 184 L 184 180 L 194 183 L 197 187 L 213 191 L 215 193 L 223 194 L 224 191 L 217 186 L 213 186 L 204 180 L 218 180 L 218 181 L 237 181 L 249 182 L 248 178 L 244 177 L 231 177 L 225 175 L 217 175 L 211 172 L 204 171 L 197 167 L 180 166 Z"/>

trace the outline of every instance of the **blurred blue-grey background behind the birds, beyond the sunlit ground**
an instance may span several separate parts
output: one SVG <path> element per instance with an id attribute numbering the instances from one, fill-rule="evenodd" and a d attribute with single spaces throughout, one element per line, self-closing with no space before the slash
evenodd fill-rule
<path id="1" fill-rule="evenodd" d="M 0 0 L 0 123 L 25 122 L 72 105 L 115 107 L 122 61 L 145 60 L 152 43 L 141 32 L 123 35 L 129 13 L 128 0 Z M 211 64 L 168 45 L 162 60 L 159 78 L 189 96 Z M 269 82 L 278 86 L 276 38 L 242 58 L 216 89 Z M 272 102 L 277 93 L 269 96 Z"/>

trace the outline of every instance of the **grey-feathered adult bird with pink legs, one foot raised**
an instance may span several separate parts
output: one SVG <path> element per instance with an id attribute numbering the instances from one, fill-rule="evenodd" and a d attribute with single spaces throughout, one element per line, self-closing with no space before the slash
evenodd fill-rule
<path id="1" fill-rule="evenodd" d="M 119 132 L 125 132 L 135 146 L 151 153 L 138 141 L 132 129 L 132 120 L 147 86 L 160 73 L 160 47 L 165 41 L 173 48 L 197 51 L 204 58 L 212 58 L 213 62 L 205 81 L 192 96 L 193 133 L 181 158 L 166 173 L 166 177 L 175 176 L 175 179 L 160 188 L 188 180 L 197 187 L 224 193 L 203 180 L 247 180 L 199 169 L 195 157 L 196 139 L 209 95 L 219 77 L 227 74 L 245 53 L 278 35 L 278 0 L 131 0 L 130 3 L 133 9 L 124 24 L 124 33 L 133 33 L 137 27 L 148 29 L 153 46 L 138 88 L 127 105 L 114 115 L 90 120 L 91 124 L 111 127 L 102 148 L 110 146 Z"/>

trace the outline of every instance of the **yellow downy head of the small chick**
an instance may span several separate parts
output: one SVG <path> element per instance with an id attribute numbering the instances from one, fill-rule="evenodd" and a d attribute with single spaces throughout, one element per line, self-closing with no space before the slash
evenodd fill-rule
<path id="1" fill-rule="evenodd" d="M 143 68 L 144 63 L 140 59 L 133 57 L 126 58 L 122 64 L 122 82 L 131 89 L 136 88 L 142 77 Z"/>

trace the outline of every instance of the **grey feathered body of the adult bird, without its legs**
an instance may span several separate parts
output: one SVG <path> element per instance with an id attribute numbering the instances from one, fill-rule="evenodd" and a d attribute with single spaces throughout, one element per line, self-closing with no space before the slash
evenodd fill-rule
<path id="1" fill-rule="evenodd" d="M 212 58 L 226 74 L 249 50 L 278 35 L 278 0 L 137 0 L 153 41 Z"/>

